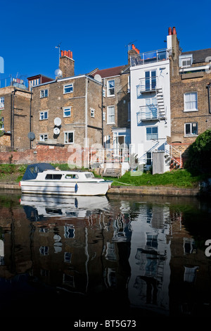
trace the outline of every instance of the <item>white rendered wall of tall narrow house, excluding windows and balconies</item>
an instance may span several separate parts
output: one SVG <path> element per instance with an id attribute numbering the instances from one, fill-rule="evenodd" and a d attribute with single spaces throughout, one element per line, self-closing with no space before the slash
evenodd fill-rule
<path id="1" fill-rule="evenodd" d="M 132 153 L 135 153 L 140 158 L 146 151 L 155 145 L 155 141 L 146 140 L 146 127 L 158 127 L 158 140 L 159 145 L 162 145 L 167 136 L 170 136 L 170 63 L 169 60 L 136 65 L 130 68 L 130 92 L 131 92 L 131 144 Z M 164 96 L 166 120 L 144 120 L 137 123 L 137 115 L 139 106 L 146 105 L 146 98 L 155 97 L 155 93 L 144 93 L 141 97 L 137 97 L 136 86 L 139 85 L 140 79 L 145 77 L 145 71 L 156 70 L 157 87 L 162 87 Z M 159 145 L 157 149 L 162 149 Z"/>

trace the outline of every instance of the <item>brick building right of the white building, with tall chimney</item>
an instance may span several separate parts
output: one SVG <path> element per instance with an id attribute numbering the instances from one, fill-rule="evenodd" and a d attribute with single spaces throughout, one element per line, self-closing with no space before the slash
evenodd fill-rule
<path id="1" fill-rule="evenodd" d="M 188 146 L 211 127 L 210 82 L 211 49 L 182 52 L 177 32 L 169 28 L 170 50 L 170 142 L 183 161 Z M 179 158 L 179 154 L 175 154 Z"/>

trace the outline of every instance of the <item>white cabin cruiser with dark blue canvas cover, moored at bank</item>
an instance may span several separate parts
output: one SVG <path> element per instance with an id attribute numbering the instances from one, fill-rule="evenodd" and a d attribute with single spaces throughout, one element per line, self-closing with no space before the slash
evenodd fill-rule
<path id="1" fill-rule="evenodd" d="M 27 166 L 20 187 L 23 193 L 105 195 L 112 181 L 94 177 L 89 171 L 56 170 L 49 163 Z"/>

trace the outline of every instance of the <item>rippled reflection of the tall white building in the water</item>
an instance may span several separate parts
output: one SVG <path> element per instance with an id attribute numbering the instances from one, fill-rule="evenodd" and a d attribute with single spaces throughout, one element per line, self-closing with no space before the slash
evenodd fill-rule
<path id="1" fill-rule="evenodd" d="M 167 313 L 170 282 L 170 229 L 166 220 L 168 207 L 141 205 L 141 212 L 132 223 L 132 249 L 129 263 L 129 300 L 134 307 Z"/>

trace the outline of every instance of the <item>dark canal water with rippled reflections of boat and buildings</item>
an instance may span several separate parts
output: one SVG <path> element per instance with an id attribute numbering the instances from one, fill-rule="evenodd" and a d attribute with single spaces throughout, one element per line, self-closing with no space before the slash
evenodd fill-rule
<path id="1" fill-rule="evenodd" d="M 210 316 L 208 201 L 0 198 L 1 316 Z"/>

